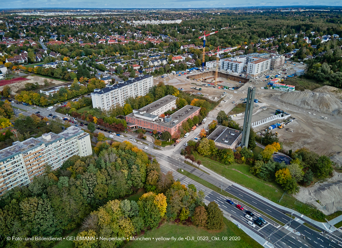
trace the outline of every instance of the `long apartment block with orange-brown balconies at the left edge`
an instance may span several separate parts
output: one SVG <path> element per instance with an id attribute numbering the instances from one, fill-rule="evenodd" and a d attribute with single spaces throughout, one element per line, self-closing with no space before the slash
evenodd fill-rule
<path id="1" fill-rule="evenodd" d="M 56 170 L 71 156 L 91 154 L 89 133 L 74 126 L 59 134 L 44 133 L 39 138 L 13 142 L 0 150 L 0 195 L 13 187 L 28 185 L 44 172 L 45 165 Z"/>

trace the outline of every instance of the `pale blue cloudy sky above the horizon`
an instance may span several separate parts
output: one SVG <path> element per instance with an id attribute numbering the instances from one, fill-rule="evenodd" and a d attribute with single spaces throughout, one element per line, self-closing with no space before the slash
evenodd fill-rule
<path id="1" fill-rule="evenodd" d="M 0 9 L 15 8 L 217 8 L 217 7 L 248 7 L 248 6 L 341 6 L 336 0 L 0 0 Z"/>

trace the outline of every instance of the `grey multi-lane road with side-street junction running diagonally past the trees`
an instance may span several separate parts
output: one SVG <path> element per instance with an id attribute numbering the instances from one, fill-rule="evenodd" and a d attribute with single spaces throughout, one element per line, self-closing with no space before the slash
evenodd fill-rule
<path id="1" fill-rule="evenodd" d="M 19 107 L 23 110 L 27 110 L 23 112 L 22 110 L 14 109 L 15 114 L 23 113 L 24 115 L 31 115 L 32 113 L 36 113 L 40 111 L 40 115 L 48 116 L 49 114 L 56 115 L 58 117 L 64 117 L 63 115 L 54 112 L 52 110 L 46 110 L 46 108 L 37 107 L 36 109 L 32 109 L 29 106 L 23 106 L 22 104 L 11 103 L 14 107 Z M 207 120 L 202 126 L 196 129 L 193 132 L 190 132 L 190 135 L 177 144 L 176 146 L 168 147 L 168 148 L 161 148 L 161 149 L 152 149 L 153 145 L 151 144 L 149 151 L 147 153 L 151 153 L 152 155 L 156 156 L 160 163 L 161 170 L 163 172 L 172 171 L 175 178 L 179 178 L 182 183 L 184 184 L 195 184 L 198 190 L 202 190 L 205 192 L 205 201 L 209 203 L 210 201 L 215 201 L 222 211 L 225 213 L 225 216 L 231 218 L 231 220 L 235 220 L 239 225 L 242 225 L 244 229 L 248 229 L 252 231 L 252 237 L 254 239 L 264 240 L 264 246 L 268 247 L 278 247 L 278 248 L 301 248 L 301 247 L 316 247 L 316 248 L 342 248 L 342 238 L 340 232 L 327 232 L 327 230 L 321 230 L 320 227 L 315 226 L 317 229 L 321 230 L 324 233 L 316 232 L 309 227 L 305 226 L 303 223 L 304 221 L 301 219 L 302 216 L 295 216 L 294 219 L 287 216 L 285 213 L 291 214 L 291 211 L 286 211 L 280 208 L 280 206 L 276 204 L 270 204 L 263 200 L 262 197 L 259 197 L 257 194 L 251 194 L 248 190 L 244 190 L 244 188 L 240 187 L 235 183 L 228 182 L 227 180 L 222 180 L 218 175 L 211 172 L 205 167 L 202 167 L 203 170 L 206 170 L 209 174 L 204 173 L 201 170 L 198 170 L 190 165 L 184 164 L 184 157 L 179 155 L 182 148 L 184 148 L 184 144 L 188 140 L 192 140 L 195 136 L 198 135 L 200 128 L 207 128 L 208 123 L 211 120 Z M 73 125 L 72 123 L 70 123 Z M 103 132 L 107 137 L 109 133 L 96 130 L 96 132 Z M 126 134 L 123 138 L 124 140 L 129 140 L 129 138 L 136 138 L 131 134 Z M 123 141 L 122 138 L 115 136 L 114 140 Z M 137 144 L 139 148 L 143 149 L 145 144 Z M 212 191 L 211 189 L 187 178 L 183 174 L 177 172 L 177 169 L 183 169 L 187 172 L 190 172 L 197 177 L 217 186 L 221 187 L 222 190 L 228 192 L 229 194 L 233 195 L 233 198 L 229 198 L 234 201 L 234 205 L 228 204 L 226 201 L 226 197 Z M 245 206 L 241 201 L 248 203 L 250 206 Z M 236 205 L 240 204 L 244 207 L 244 210 L 240 210 L 236 208 Z M 253 217 L 253 221 L 258 218 L 262 217 L 266 224 L 262 227 L 256 225 L 255 227 L 251 227 L 248 224 L 248 219 L 245 217 L 246 210 L 249 210 L 255 214 Z M 278 224 L 274 222 L 272 219 L 268 218 L 264 215 L 266 213 L 268 216 L 278 220 L 282 224 Z M 310 223 L 313 225 L 312 223 Z M 327 227 L 328 229 L 329 227 Z M 256 236 L 255 236 L 256 235 Z"/>

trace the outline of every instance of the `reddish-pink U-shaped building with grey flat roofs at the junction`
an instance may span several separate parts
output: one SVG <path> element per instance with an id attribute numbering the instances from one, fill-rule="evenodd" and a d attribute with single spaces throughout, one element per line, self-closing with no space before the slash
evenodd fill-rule
<path id="1" fill-rule="evenodd" d="M 199 115 L 200 107 L 186 105 L 170 116 L 161 117 L 169 109 L 176 108 L 178 97 L 167 95 L 141 108 L 133 109 L 133 113 L 126 116 L 127 128 L 141 128 L 148 132 L 156 130 L 158 133 L 168 131 L 173 135 L 182 123 L 195 115 Z"/>

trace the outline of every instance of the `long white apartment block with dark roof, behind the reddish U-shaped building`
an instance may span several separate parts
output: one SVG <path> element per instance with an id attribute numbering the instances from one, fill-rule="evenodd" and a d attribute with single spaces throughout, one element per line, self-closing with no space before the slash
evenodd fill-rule
<path id="1" fill-rule="evenodd" d="M 91 93 L 93 108 L 109 109 L 117 104 L 123 106 L 128 97 L 146 95 L 152 87 L 153 76 L 144 75 L 103 89 L 94 89 Z"/>

